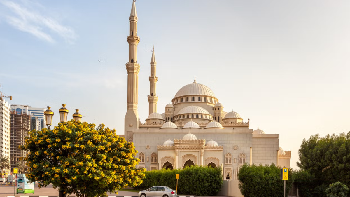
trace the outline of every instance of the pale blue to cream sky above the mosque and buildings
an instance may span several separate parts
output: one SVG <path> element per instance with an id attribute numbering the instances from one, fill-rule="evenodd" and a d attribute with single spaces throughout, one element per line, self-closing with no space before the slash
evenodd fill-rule
<path id="1" fill-rule="evenodd" d="M 0 91 L 124 134 L 131 0 L 0 0 Z M 149 62 L 158 112 L 192 83 L 250 129 L 280 134 L 296 168 L 302 140 L 350 130 L 350 1 L 137 0 L 139 115 Z"/>

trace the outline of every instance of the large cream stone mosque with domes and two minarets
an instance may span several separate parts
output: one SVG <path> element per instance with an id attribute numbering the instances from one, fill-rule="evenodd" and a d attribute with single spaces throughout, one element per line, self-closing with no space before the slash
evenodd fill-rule
<path id="1" fill-rule="evenodd" d="M 135 1 L 130 14 L 129 59 L 127 70 L 127 111 L 124 137 L 138 150 L 139 168 L 183 168 L 186 165 L 221 167 L 224 180 L 237 180 L 241 165 L 277 164 L 290 166 L 290 151 L 279 147 L 279 134 L 250 129 L 249 119 L 236 111 L 224 111 L 208 86 L 194 79 L 180 88 L 163 113 L 157 113 L 156 58 L 150 65 L 149 116 L 138 114 L 138 16 Z M 175 92 L 174 92 L 175 93 Z M 228 104 L 229 105 L 229 104 Z"/>

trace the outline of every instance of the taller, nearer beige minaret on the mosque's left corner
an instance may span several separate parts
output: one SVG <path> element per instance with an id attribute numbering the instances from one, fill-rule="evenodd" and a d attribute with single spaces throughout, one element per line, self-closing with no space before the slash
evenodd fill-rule
<path id="1" fill-rule="evenodd" d="M 140 38 L 137 36 L 137 13 L 135 1 L 132 2 L 130 13 L 130 33 L 127 37 L 129 43 L 129 61 L 126 63 L 128 72 L 128 93 L 127 93 L 127 111 L 124 121 L 125 140 L 132 141 L 132 133 L 130 131 L 139 128 L 139 112 L 138 104 L 138 87 L 139 87 L 139 71 L 140 64 L 137 63 L 137 46 Z M 128 132 L 129 131 L 129 132 Z M 128 134 L 129 133 L 129 134 Z M 131 136 L 130 136 L 131 134 Z"/>

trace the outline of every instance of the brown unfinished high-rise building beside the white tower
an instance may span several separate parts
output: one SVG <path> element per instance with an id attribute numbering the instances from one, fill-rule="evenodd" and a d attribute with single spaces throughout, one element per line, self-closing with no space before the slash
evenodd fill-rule
<path id="1" fill-rule="evenodd" d="M 12 107 L 12 106 L 11 106 Z M 25 137 L 30 131 L 30 116 L 27 113 L 19 111 L 11 111 L 11 141 L 10 141 L 10 157 L 13 159 L 11 168 L 14 168 L 16 163 L 22 163 L 27 169 L 25 162 L 20 161 L 21 157 L 27 155 L 26 151 L 19 149 L 20 145 L 25 144 Z"/>

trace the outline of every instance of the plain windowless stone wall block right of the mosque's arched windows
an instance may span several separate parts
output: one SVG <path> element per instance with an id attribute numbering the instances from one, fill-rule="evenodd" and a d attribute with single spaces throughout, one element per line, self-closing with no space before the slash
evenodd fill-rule
<path id="1" fill-rule="evenodd" d="M 252 163 L 255 165 L 274 163 L 276 165 L 279 134 L 253 134 L 253 136 Z"/>

